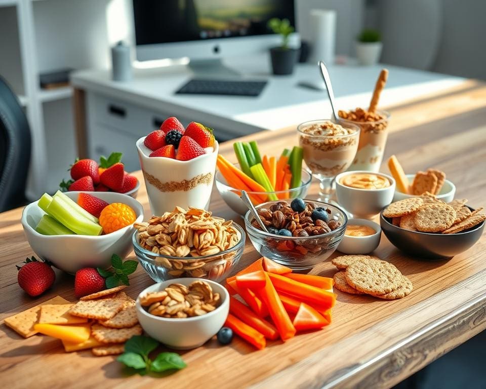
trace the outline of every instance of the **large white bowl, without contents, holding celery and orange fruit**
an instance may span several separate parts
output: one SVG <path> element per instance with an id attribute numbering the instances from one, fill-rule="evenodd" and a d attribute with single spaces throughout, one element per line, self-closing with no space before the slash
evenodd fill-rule
<path id="1" fill-rule="evenodd" d="M 142 205 L 134 198 L 115 192 L 86 192 L 107 203 L 124 203 L 132 207 L 137 215 L 137 221 L 143 220 Z M 79 192 L 66 192 L 66 196 L 76 201 Z M 111 234 L 100 236 L 87 235 L 42 235 L 35 231 L 35 226 L 45 212 L 37 206 L 37 202 L 27 205 L 22 212 L 22 226 L 32 250 L 39 257 L 47 259 L 57 268 L 75 273 L 83 267 L 111 266 L 111 256 L 118 254 L 124 258 L 132 249 L 134 228 L 128 225 Z"/>

